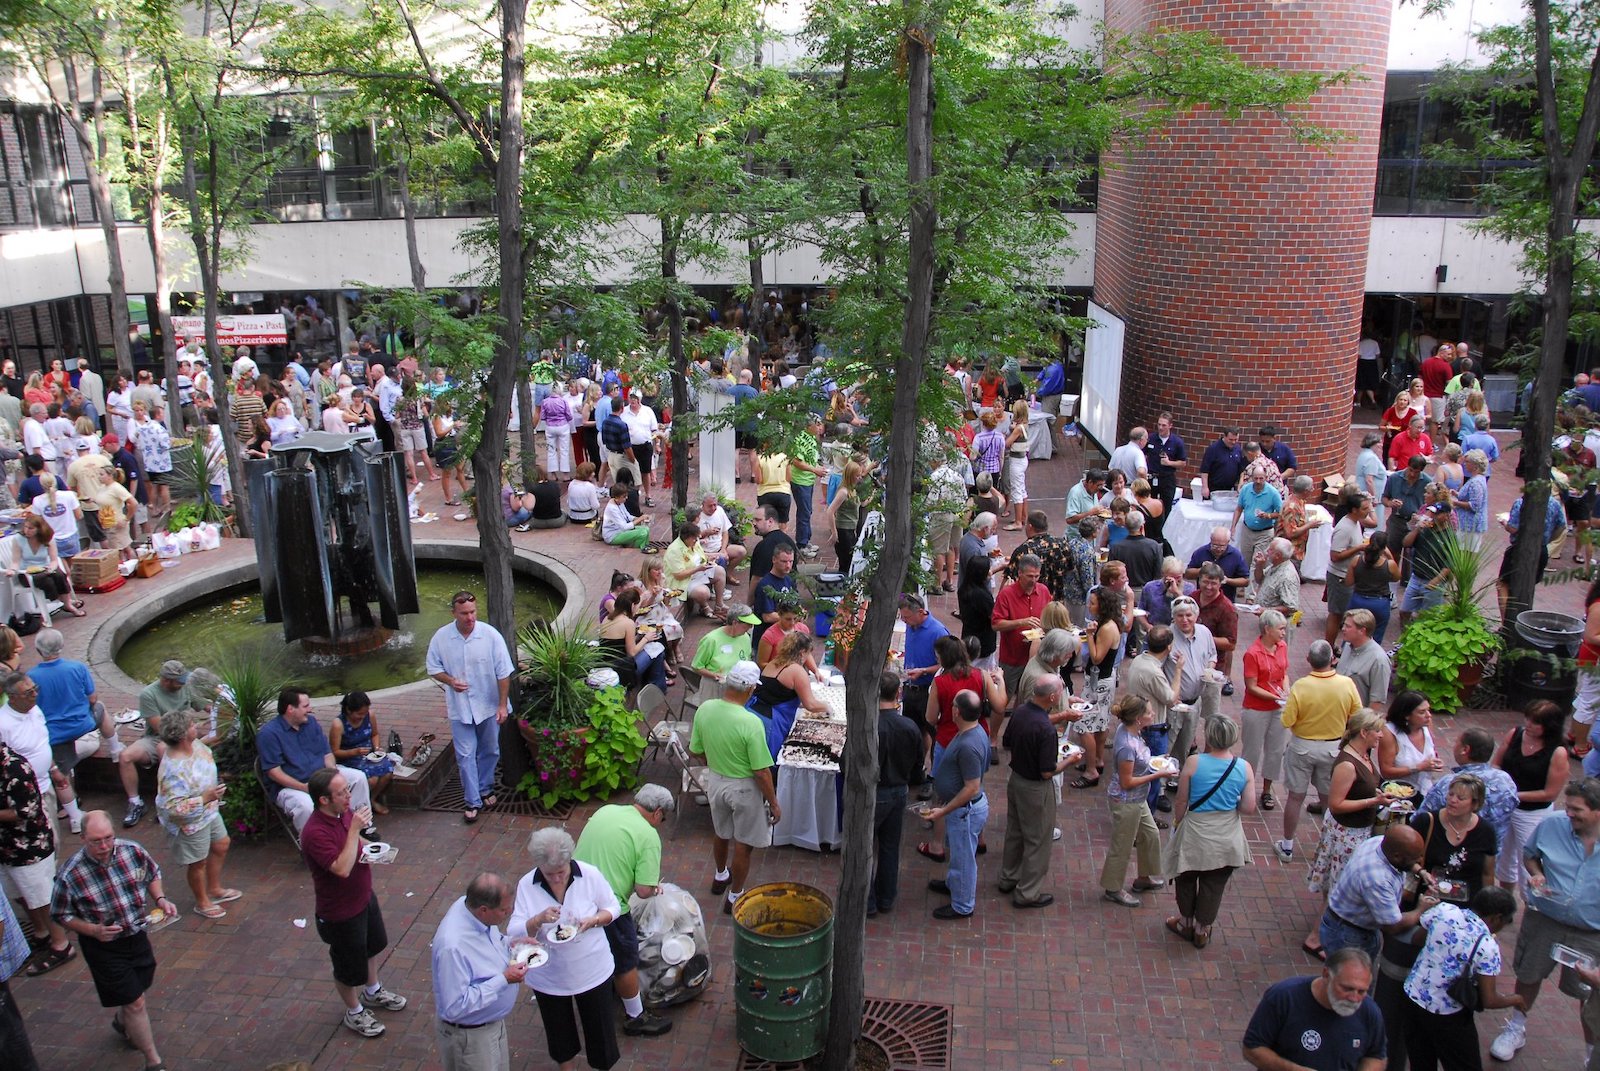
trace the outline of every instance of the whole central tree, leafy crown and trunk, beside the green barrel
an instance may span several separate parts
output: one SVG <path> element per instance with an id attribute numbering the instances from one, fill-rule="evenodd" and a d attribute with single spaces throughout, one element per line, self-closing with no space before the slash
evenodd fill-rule
<path id="1" fill-rule="evenodd" d="M 829 373 L 861 381 L 886 426 L 883 528 L 867 548 L 866 626 L 851 666 L 883 664 L 917 546 L 915 490 L 955 421 L 947 355 L 1018 357 L 1070 327 L 1053 309 L 1069 255 L 1062 208 L 1115 139 L 1160 130 L 1176 110 L 1290 107 L 1330 77 L 1254 69 L 1214 38 L 1109 37 L 1078 53 L 1032 8 L 987 0 L 813 3 L 806 99 L 763 150 L 803 160 L 803 195 L 774 227 L 813 243 L 830 301 L 819 309 Z M 1331 75 L 1339 77 L 1339 75 Z M 845 749 L 845 856 L 824 1068 L 850 1066 L 864 999 L 862 919 L 877 781 L 872 672 L 853 674 Z"/>

